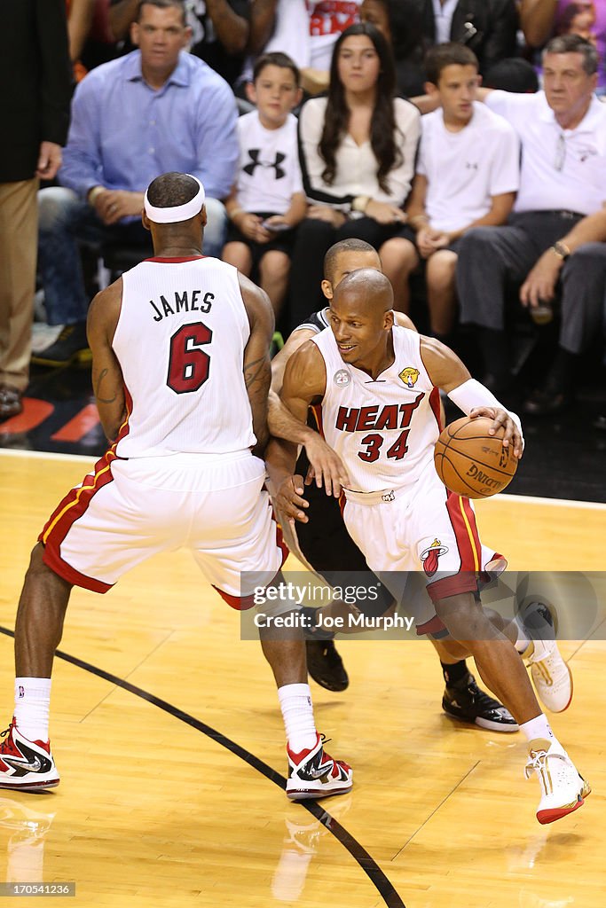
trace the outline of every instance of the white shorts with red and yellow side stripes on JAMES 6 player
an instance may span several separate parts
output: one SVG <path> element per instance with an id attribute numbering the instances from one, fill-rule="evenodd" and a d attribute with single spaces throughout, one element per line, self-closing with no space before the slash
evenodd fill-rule
<path id="1" fill-rule="evenodd" d="M 46 523 L 45 564 L 105 593 L 156 552 L 190 548 L 224 599 L 249 607 L 241 600 L 269 583 L 287 554 L 264 479 L 263 460 L 248 450 L 116 459 L 110 449 Z"/>

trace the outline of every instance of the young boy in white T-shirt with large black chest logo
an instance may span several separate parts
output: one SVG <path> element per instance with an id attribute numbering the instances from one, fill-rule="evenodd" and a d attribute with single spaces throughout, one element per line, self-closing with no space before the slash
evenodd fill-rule
<path id="1" fill-rule="evenodd" d="M 258 267 L 261 287 L 277 314 L 288 283 L 293 227 L 307 211 L 291 113 L 301 89 L 291 58 L 263 54 L 248 96 L 257 109 L 238 120 L 240 164 L 225 203 L 232 225 L 222 258 L 247 277 Z"/>

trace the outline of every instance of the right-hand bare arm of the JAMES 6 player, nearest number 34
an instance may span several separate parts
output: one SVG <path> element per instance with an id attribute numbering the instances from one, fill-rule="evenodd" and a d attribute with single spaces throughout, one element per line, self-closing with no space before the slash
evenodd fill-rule
<path id="1" fill-rule="evenodd" d="M 253 453 L 261 457 L 269 439 L 267 396 L 272 379 L 269 349 L 273 338 L 273 309 L 265 291 L 253 284 L 253 281 L 249 281 L 243 274 L 238 274 L 238 280 L 251 329 L 244 348 L 244 384 L 253 412 L 253 432 L 257 439 Z"/>

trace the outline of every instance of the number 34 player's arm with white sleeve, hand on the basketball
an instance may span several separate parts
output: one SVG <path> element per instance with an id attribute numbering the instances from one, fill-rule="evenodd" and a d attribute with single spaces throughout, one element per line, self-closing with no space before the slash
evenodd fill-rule
<path id="1" fill-rule="evenodd" d="M 480 416 L 492 419 L 492 427 L 489 429 L 491 435 L 503 427 L 503 448 L 508 448 L 511 444 L 515 457 L 521 458 L 524 439 L 520 418 L 506 410 L 492 391 L 480 381 L 472 379 L 456 353 L 435 338 L 422 337 L 421 357 L 432 383 L 445 390 L 452 403 L 467 416 L 472 419 Z"/>

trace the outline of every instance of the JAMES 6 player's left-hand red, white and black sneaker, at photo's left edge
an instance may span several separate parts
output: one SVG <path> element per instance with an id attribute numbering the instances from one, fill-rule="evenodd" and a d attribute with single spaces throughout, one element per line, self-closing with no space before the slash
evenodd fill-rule
<path id="1" fill-rule="evenodd" d="M 0 736 L 0 788 L 34 792 L 59 785 L 50 741 L 29 741 L 13 721 Z"/>

